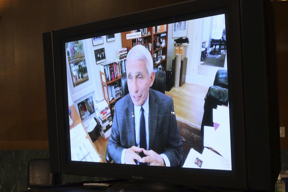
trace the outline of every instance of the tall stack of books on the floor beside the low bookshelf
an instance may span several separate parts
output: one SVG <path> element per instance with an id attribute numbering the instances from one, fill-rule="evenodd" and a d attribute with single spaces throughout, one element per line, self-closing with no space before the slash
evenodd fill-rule
<path id="1" fill-rule="evenodd" d="M 103 98 L 96 101 L 96 121 L 100 127 L 99 133 L 105 140 L 108 140 L 111 134 L 112 116 L 109 105 Z"/>

